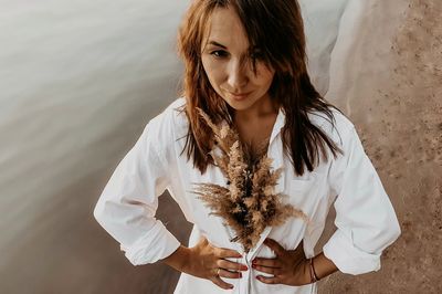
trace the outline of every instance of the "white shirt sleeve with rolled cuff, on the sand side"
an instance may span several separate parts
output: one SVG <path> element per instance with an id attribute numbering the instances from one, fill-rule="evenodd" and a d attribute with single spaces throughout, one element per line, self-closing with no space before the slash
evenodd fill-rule
<path id="1" fill-rule="evenodd" d="M 343 134 L 344 156 L 332 164 L 336 232 L 323 251 L 348 274 L 380 269 L 382 251 L 401 233 L 392 204 L 354 126 Z"/>

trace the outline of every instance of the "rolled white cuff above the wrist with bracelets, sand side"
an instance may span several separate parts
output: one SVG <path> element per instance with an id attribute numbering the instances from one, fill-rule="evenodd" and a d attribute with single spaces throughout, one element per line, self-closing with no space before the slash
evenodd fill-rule
<path id="1" fill-rule="evenodd" d="M 340 272 L 364 274 L 380 270 L 380 255 L 361 251 L 352 244 L 351 238 L 337 230 L 323 248 L 324 255 L 332 260 Z"/>

